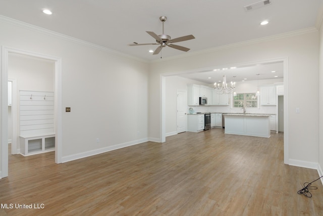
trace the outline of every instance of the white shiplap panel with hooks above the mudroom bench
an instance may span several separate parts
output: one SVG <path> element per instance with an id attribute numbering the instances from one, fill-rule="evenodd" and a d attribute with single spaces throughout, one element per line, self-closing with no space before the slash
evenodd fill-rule
<path id="1" fill-rule="evenodd" d="M 20 136 L 54 134 L 53 92 L 20 91 Z"/>

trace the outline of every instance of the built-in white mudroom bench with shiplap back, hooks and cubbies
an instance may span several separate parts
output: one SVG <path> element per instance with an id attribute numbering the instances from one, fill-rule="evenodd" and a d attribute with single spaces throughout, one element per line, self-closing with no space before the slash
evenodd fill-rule
<path id="1" fill-rule="evenodd" d="M 55 151 L 53 92 L 20 91 L 20 153 Z"/>

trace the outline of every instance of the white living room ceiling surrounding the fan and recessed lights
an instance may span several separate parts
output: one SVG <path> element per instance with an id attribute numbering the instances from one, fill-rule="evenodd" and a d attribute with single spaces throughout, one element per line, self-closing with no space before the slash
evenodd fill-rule
<path id="1" fill-rule="evenodd" d="M 129 44 L 154 43 L 155 39 L 145 31 L 161 34 L 163 25 L 159 20 L 160 16 L 168 18 L 165 22 L 165 34 L 172 38 L 189 34 L 195 36 L 195 39 L 176 43 L 190 48 L 188 53 L 194 53 L 315 27 L 322 3 L 322 0 L 270 0 L 271 4 L 268 6 L 248 12 L 244 10 L 244 6 L 258 1 L 0 0 L 0 15 L 82 39 L 145 61 L 154 61 L 160 59 L 160 54 L 152 55 L 148 50 L 155 50 L 157 45 L 133 47 Z M 52 15 L 43 14 L 44 8 L 50 9 Z M 269 23 L 265 26 L 260 25 L 263 20 L 268 20 Z M 161 51 L 163 58 L 185 54 L 170 47 Z M 273 65 L 273 67 L 277 66 Z M 247 69 L 251 71 L 251 67 L 235 70 L 243 73 Z M 257 68 L 250 73 L 256 77 L 254 74 L 262 73 L 257 71 L 262 69 Z M 190 74 L 186 75 L 190 76 Z M 199 74 L 201 79 L 209 76 L 211 75 L 206 73 Z"/>

